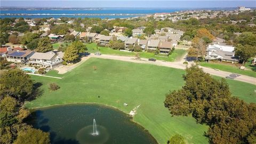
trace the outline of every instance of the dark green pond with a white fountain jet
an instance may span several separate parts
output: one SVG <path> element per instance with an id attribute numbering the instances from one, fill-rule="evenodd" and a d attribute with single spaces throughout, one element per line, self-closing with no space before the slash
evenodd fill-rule
<path id="1" fill-rule="evenodd" d="M 36 109 L 27 123 L 50 132 L 51 143 L 157 143 L 127 114 L 101 105 L 79 104 Z"/>

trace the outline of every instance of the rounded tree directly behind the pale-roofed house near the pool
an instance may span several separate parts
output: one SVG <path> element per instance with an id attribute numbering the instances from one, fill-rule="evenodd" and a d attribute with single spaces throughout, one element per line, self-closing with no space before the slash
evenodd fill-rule
<path id="1" fill-rule="evenodd" d="M 40 38 L 37 44 L 37 52 L 49 52 L 53 50 L 49 37 Z"/>

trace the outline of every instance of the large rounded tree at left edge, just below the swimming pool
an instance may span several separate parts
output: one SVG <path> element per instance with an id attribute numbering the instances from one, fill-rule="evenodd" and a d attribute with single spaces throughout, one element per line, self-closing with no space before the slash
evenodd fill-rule
<path id="1" fill-rule="evenodd" d="M 1 74 L 1 99 L 6 96 L 25 99 L 33 91 L 33 81 L 20 69 L 11 69 Z"/>

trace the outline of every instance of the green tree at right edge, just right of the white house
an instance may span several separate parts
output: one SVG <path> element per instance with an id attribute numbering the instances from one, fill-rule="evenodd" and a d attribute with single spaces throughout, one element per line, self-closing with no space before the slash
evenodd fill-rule
<path id="1" fill-rule="evenodd" d="M 241 45 L 238 44 L 235 47 L 235 55 L 240 57 L 243 62 L 247 62 L 248 59 L 256 55 L 256 47 L 252 45 Z"/>

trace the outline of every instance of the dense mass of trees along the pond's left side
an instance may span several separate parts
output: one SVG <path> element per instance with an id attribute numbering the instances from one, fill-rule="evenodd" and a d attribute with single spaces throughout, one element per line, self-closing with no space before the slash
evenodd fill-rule
<path id="1" fill-rule="evenodd" d="M 20 69 L 1 71 L 0 143 L 50 143 L 50 134 L 23 122 L 30 115 L 23 105 L 39 93 L 30 76 Z"/>

